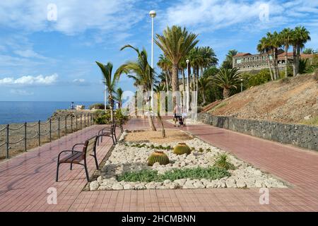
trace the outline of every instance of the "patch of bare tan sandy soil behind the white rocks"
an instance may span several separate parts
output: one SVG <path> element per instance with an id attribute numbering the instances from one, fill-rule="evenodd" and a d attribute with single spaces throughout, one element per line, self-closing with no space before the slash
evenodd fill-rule
<path id="1" fill-rule="evenodd" d="M 128 133 L 125 141 L 152 142 L 152 143 L 170 143 L 175 141 L 189 141 L 192 139 L 187 133 L 181 130 L 166 130 L 166 137 L 161 136 L 161 131 L 135 131 Z"/>

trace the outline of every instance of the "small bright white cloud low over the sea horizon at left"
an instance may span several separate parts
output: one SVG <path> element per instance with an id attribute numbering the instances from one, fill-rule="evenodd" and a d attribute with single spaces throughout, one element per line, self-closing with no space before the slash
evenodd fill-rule
<path id="1" fill-rule="evenodd" d="M 0 85 L 52 85 L 57 82 L 57 73 L 52 76 L 22 76 L 20 78 L 1 78 Z"/>

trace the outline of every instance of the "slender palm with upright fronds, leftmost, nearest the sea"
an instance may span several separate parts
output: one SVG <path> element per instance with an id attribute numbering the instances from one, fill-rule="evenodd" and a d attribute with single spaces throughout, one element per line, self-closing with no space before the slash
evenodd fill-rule
<path id="1" fill-rule="evenodd" d="M 107 87 L 108 92 L 108 102 L 110 103 L 110 121 L 114 121 L 114 100 L 112 94 L 115 92 L 115 88 L 122 71 L 120 71 L 120 69 L 117 69 L 117 71 L 114 73 L 114 77 L 112 77 L 113 66 L 111 62 L 108 62 L 106 65 L 104 65 L 96 61 L 96 64 L 100 67 L 102 76 L 104 76 L 104 83 Z"/>

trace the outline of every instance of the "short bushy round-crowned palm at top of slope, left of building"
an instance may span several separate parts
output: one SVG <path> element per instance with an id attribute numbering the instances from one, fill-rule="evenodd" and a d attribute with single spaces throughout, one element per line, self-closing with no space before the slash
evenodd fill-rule
<path id="1" fill-rule="evenodd" d="M 238 69 L 220 69 L 220 72 L 212 78 L 212 81 L 216 83 L 220 88 L 223 88 L 223 98 L 230 97 L 230 88 L 237 88 L 237 84 L 240 83 L 240 73 Z"/>

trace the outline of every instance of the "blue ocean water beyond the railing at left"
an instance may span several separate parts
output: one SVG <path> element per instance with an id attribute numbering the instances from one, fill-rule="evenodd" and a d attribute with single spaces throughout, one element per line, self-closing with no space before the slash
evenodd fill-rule
<path id="1" fill-rule="evenodd" d="M 97 102 L 74 102 L 86 109 Z M 71 102 L 0 101 L 0 124 L 46 121 L 57 109 L 69 109 Z"/>

